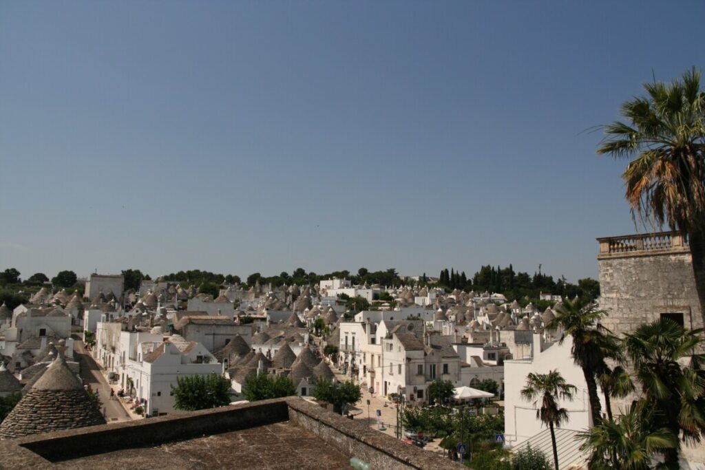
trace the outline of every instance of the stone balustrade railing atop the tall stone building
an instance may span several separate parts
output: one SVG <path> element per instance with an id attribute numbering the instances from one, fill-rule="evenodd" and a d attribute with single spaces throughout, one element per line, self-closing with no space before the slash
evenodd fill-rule
<path id="1" fill-rule="evenodd" d="M 624 237 L 598 238 L 599 257 L 688 252 L 688 240 L 680 232 L 645 233 Z"/>

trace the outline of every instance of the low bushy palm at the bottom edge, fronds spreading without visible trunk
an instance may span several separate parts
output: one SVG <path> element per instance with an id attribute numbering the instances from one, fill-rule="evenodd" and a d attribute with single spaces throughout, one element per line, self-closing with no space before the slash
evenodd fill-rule
<path id="1" fill-rule="evenodd" d="M 655 452 L 678 447 L 678 438 L 667 428 L 652 428 L 655 413 L 646 402 L 635 403 L 616 421 L 608 419 L 580 433 L 580 450 L 590 452 L 589 468 L 646 470 Z"/>

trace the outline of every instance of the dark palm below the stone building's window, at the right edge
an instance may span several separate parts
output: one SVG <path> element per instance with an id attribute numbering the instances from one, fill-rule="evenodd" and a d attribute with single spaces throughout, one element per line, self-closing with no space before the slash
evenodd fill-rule
<path id="1" fill-rule="evenodd" d="M 702 331 L 661 320 L 639 326 L 625 338 L 642 397 L 658 411 L 654 425 L 691 443 L 705 435 L 705 354 L 694 354 Z M 683 361 L 689 364 L 683 366 Z M 678 468 L 678 447 L 663 454 L 666 465 Z"/>

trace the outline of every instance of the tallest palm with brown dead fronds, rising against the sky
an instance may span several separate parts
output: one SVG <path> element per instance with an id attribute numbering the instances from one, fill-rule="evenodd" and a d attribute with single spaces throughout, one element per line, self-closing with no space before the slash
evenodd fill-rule
<path id="1" fill-rule="evenodd" d="M 695 68 L 644 89 L 622 104 L 627 123 L 603 126 L 597 153 L 633 158 L 622 173 L 633 216 L 687 235 L 705 324 L 705 92 Z"/>

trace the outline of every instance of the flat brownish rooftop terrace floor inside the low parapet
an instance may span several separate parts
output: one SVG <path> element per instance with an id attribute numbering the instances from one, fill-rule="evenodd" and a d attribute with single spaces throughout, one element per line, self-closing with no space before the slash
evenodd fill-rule
<path id="1" fill-rule="evenodd" d="M 350 457 L 292 423 L 274 423 L 56 462 L 59 469 L 346 469 Z"/>

